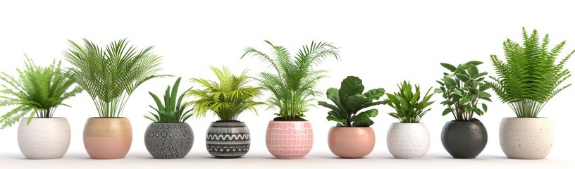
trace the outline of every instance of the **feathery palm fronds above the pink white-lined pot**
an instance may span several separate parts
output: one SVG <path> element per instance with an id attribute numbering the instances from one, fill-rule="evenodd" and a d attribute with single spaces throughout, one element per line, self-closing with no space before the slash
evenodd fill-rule
<path id="1" fill-rule="evenodd" d="M 273 49 L 273 55 L 264 54 L 261 51 L 249 47 L 245 54 L 258 57 L 261 61 L 270 64 L 276 73 L 259 73 L 257 81 L 261 87 L 273 94 L 268 99 L 270 108 L 279 108 L 278 120 L 296 120 L 304 117 L 308 111 L 314 96 L 321 96 L 321 92 L 315 90 L 316 84 L 326 77 L 326 70 L 314 70 L 314 65 L 319 65 L 328 57 L 339 59 L 338 48 L 326 42 L 311 42 L 299 49 L 297 55 L 292 57 L 283 46 L 275 46 L 265 41 Z"/>

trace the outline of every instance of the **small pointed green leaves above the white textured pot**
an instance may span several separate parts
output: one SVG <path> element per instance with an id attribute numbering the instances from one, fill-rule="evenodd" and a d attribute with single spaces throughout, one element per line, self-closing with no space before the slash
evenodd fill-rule
<path id="1" fill-rule="evenodd" d="M 426 108 L 435 102 L 429 101 L 431 96 L 433 96 L 433 92 L 431 92 L 433 87 L 430 87 L 423 97 L 421 92 L 419 92 L 418 84 L 415 84 L 415 93 L 413 92 L 414 86 L 409 82 L 403 81 L 397 84 L 397 87 L 400 88 L 400 92 L 388 93 L 388 99 L 385 99 L 388 102 L 388 106 L 395 109 L 395 113 L 388 114 L 393 118 L 399 119 L 401 123 L 419 123 L 421 117 L 431 111 L 431 108 Z"/>

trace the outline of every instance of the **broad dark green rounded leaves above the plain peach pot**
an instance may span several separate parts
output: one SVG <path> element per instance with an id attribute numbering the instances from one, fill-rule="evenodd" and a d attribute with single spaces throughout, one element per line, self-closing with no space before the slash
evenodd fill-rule
<path id="1" fill-rule="evenodd" d="M 328 99 L 334 105 L 325 101 L 319 101 L 318 104 L 331 109 L 327 118 L 338 122 L 338 127 L 369 127 L 373 125 L 373 121 L 369 118 L 376 117 L 378 110 L 373 108 L 358 112 L 364 108 L 385 104 L 385 101 L 376 101 L 385 94 L 385 89 L 371 89 L 363 93 L 364 89 L 359 77 L 348 76 L 341 82 L 340 89 L 330 88 L 326 92 Z"/>

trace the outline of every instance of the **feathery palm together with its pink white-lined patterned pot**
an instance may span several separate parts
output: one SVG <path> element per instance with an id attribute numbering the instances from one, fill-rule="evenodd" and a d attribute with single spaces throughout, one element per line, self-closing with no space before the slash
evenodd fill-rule
<path id="1" fill-rule="evenodd" d="M 254 48 L 247 48 L 242 58 L 248 54 L 268 63 L 275 73 L 259 73 L 257 81 L 273 95 L 268 99 L 270 108 L 279 108 L 277 118 L 268 123 L 266 146 L 276 158 L 303 158 L 314 145 L 314 132 L 311 123 L 305 120 L 314 96 L 321 95 L 315 90 L 316 84 L 326 77 L 325 70 L 314 70 L 328 57 L 339 58 L 338 49 L 326 42 L 311 42 L 299 49 L 295 58 L 283 46 L 275 46 L 273 55 L 264 54 Z"/>

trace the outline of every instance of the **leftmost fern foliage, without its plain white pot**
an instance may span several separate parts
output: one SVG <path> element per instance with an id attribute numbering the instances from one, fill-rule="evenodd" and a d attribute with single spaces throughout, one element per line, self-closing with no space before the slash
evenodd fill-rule
<path id="1" fill-rule="evenodd" d="M 58 106 L 68 106 L 63 101 L 82 92 L 76 86 L 72 71 L 63 71 L 61 61 L 52 61 L 51 65 L 36 65 L 26 56 L 25 68 L 18 71 L 18 79 L 7 73 L 1 73 L 0 106 L 16 106 L 0 117 L 1 128 L 9 127 L 27 116 L 27 124 L 34 116 L 51 118 Z M 72 87 L 70 89 L 70 87 Z M 69 107 L 69 106 L 68 106 Z"/>

